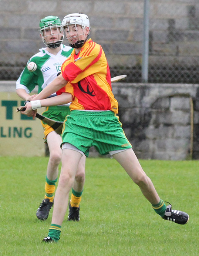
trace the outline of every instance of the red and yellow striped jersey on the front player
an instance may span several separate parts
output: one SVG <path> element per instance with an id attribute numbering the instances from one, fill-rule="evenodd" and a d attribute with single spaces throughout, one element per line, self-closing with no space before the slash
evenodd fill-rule
<path id="1" fill-rule="evenodd" d="M 71 110 L 112 110 L 118 113 L 118 102 L 111 88 L 111 74 L 102 47 L 89 39 L 79 54 L 73 50 L 62 64 L 61 74 L 66 81 L 58 94 L 71 93 Z"/>

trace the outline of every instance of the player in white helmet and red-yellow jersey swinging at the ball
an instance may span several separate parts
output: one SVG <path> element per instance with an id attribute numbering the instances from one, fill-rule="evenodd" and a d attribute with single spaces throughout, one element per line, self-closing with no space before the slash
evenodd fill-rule
<path id="1" fill-rule="evenodd" d="M 62 166 L 54 198 L 52 224 L 43 241 L 59 240 L 78 163 L 82 155 L 88 156 L 92 146 L 101 155 L 109 153 L 121 164 L 163 219 L 186 224 L 188 214 L 165 205 L 122 130 L 116 116 L 118 102 L 112 93 L 107 59 L 102 47 L 88 39 L 88 16 L 78 13 L 67 15 L 62 26 L 66 39 L 74 50 L 63 63 L 61 74 L 26 105 L 27 110 L 24 112 L 35 116 L 33 110 L 38 107 L 72 101 L 71 112 L 66 116 L 62 132 Z M 58 96 L 46 99 L 54 92 Z"/>

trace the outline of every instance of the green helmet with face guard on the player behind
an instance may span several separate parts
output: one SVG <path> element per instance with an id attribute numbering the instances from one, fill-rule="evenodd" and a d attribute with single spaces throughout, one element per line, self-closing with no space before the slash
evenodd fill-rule
<path id="1" fill-rule="evenodd" d="M 52 28 L 57 28 L 57 34 L 55 34 L 52 31 Z M 59 36 L 61 35 L 61 38 L 59 40 L 57 40 L 56 42 L 47 42 L 46 39 L 47 37 L 50 37 L 51 35 L 47 35 L 46 36 L 46 29 L 50 29 L 51 31 L 51 35 L 54 36 Z M 61 27 L 61 20 L 57 17 L 57 16 L 47 16 L 44 19 L 41 19 L 40 23 L 39 23 L 39 32 L 42 35 L 42 40 L 43 43 L 49 47 L 49 48 L 57 48 L 61 45 L 61 43 L 64 40 L 64 34 L 63 34 L 63 29 Z"/>

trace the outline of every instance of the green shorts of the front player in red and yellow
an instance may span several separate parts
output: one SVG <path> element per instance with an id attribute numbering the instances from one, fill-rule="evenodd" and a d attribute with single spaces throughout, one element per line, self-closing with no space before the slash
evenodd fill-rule
<path id="1" fill-rule="evenodd" d="M 86 156 L 92 146 L 101 155 L 132 147 L 124 134 L 119 117 L 112 111 L 71 111 L 63 127 L 63 143 L 74 145 Z"/>

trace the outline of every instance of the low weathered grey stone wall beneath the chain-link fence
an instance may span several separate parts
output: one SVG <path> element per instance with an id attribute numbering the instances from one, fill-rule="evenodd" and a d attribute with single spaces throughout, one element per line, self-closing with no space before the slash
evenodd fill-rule
<path id="1" fill-rule="evenodd" d="M 199 85 L 118 82 L 112 88 L 123 129 L 139 159 L 199 159 Z M 14 93 L 15 81 L 0 81 L 4 92 Z M 0 102 L 1 120 L 4 109 Z M 19 114 L 10 122 L 20 126 Z M 99 154 L 92 148 L 90 156 Z"/>

